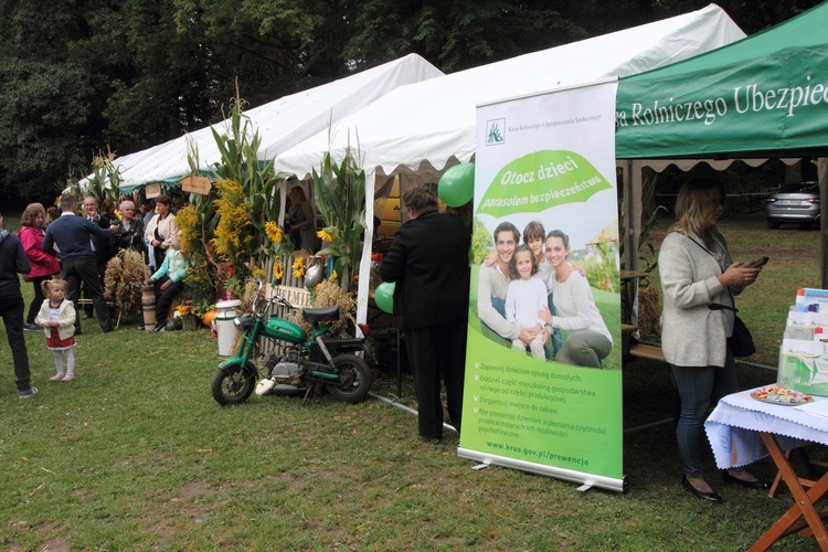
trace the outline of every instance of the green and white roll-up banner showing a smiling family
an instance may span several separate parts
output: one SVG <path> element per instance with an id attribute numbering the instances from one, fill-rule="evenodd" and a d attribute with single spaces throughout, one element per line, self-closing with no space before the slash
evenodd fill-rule
<path id="1" fill-rule="evenodd" d="M 613 81 L 478 106 L 474 242 L 487 244 L 485 247 L 495 252 L 498 261 L 493 267 L 475 264 L 471 268 L 458 454 L 485 464 L 620 491 L 616 87 Z M 521 233 L 517 244 L 496 243 L 493 233 L 505 224 Z M 575 336 L 582 335 L 581 329 L 605 328 L 612 349 L 599 368 L 549 358 L 553 354 L 551 339 L 543 358 L 537 350 L 530 354 L 531 347 L 522 347 L 513 336 L 505 337 L 510 328 L 531 327 L 541 336 L 546 331 L 538 330 L 542 325 L 534 320 L 524 326 L 519 317 L 510 318 L 514 312 L 508 301 L 502 318 L 491 319 L 500 316 L 492 312 L 505 302 L 506 295 L 518 294 L 519 287 L 510 288 L 514 280 L 532 279 L 509 269 L 505 274 L 500 262 L 513 258 L 510 263 L 517 270 L 521 257 L 512 253 L 523 244 L 524 230 L 537 233 L 539 227 L 544 237 L 551 231 L 569 237 L 567 261 L 585 275 L 570 276 L 582 286 L 578 295 L 573 295 L 578 298 L 577 312 L 558 319 L 553 316 L 552 320 L 554 325 L 569 320 L 565 326 L 570 329 L 562 332 L 564 344 L 577 342 Z M 526 256 L 526 250 L 521 254 Z M 548 276 L 541 279 L 552 286 L 549 270 L 554 278 L 552 266 L 559 265 L 549 258 L 558 261 L 548 258 L 546 251 L 539 256 L 548 263 Z M 540 278 L 540 274 L 533 277 Z M 542 294 L 545 308 L 546 301 L 550 307 L 556 306 L 569 293 L 565 286 L 555 289 L 558 299 L 548 297 L 546 287 L 533 293 Z"/>

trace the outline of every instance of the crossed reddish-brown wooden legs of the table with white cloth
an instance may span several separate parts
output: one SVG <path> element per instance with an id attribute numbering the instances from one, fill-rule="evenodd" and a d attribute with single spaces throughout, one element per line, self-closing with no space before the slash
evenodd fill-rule
<path id="1" fill-rule="evenodd" d="M 782 537 L 789 534 L 792 527 L 800 517 L 805 518 L 808 523 L 808 528 L 814 532 L 814 537 L 817 539 L 817 543 L 821 550 L 828 550 L 828 531 L 820 512 L 817 512 L 814 508 L 814 503 L 819 500 L 822 495 L 828 491 L 828 474 L 824 475 L 819 480 L 811 487 L 807 492 L 803 488 L 799 477 L 794 473 L 794 468 L 790 466 L 785 454 L 779 448 L 778 443 L 774 438 L 773 434 L 760 433 L 762 442 L 765 444 L 767 452 L 771 453 L 776 467 L 779 468 L 779 474 L 783 480 L 787 484 L 790 493 L 794 496 L 794 506 L 785 512 L 782 518 L 768 529 L 754 544 L 751 546 L 751 551 L 767 550 L 774 542 L 779 540 Z"/>

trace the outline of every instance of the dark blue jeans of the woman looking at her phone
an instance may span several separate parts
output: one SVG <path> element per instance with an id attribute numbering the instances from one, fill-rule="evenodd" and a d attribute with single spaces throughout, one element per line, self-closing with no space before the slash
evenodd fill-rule
<path id="1" fill-rule="evenodd" d="M 681 397 L 681 415 L 676 426 L 676 440 L 684 474 L 687 477 L 702 477 L 701 450 L 707 444 L 704 420 L 711 404 L 719 402 L 724 395 L 739 391 L 736 364 L 728 349 L 723 368 L 670 364 L 670 371 Z"/>

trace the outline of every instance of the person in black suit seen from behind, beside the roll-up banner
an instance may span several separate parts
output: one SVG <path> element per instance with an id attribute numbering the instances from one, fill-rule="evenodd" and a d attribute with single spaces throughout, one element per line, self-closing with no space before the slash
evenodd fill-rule
<path id="1" fill-rule="evenodd" d="M 396 283 L 394 326 L 405 330 L 420 435 L 439 439 L 440 379 L 449 421 L 460 431 L 471 236 L 458 216 L 437 211 L 437 199 L 425 185 L 408 188 L 402 203 L 410 221 L 396 232 L 380 275 Z"/>

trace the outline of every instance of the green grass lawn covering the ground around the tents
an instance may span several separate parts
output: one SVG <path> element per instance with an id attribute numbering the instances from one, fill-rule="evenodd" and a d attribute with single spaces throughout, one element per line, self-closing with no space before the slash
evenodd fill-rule
<path id="1" fill-rule="evenodd" d="M 724 221 L 736 258 L 771 256 L 739 299 L 775 364 L 787 305 L 819 279 L 819 233 Z M 25 285 L 26 298 L 31 286 Z M 20 401 L 0 338 L 0 546 L 7 550 L 744 550 L 790 506 L 710 480 L 711 507 L 679 486 L 669 424 L 625 434 L 626 495 L 490 467 L 456 456 L 457 437 L 425 444 L 414 417 L 368 400 L 254 396 L 237 407 L 211 397 L 217 346 L 205 330 L 148 333 L 127 319 L 102 333 L 84 321 L 77 379 L 52 383 L 51 352 L 26 333 L 33 382 Z M 1 326 L 1 325 L 0 325 Z M 742 386 L 773 372 L 740 365 Z M 411 379 L 378 373 L 374 391 L 414 404 Z M 625 426 L 670 416 L 662 365 L 624 370 Z M 819 456 L 819 450 L 813 450 Z M 763 477 L 773 464 L 755 467 Z M 775 550 L 813 550 L 794 535 Z"/>

